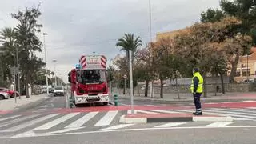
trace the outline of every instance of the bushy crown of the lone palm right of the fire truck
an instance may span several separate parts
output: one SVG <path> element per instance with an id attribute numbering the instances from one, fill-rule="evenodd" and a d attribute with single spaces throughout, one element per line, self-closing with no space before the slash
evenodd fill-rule
<path id="1" fill-rule="evenodd" d="M 126 51 L 127 60 L 130 58 L 129 50 L 131 50 L 132 62 L 134 62 L 134 53 L 138 50 L 138 46 L 142 46 L 142 40 L 140 37 L 134 38 L 134 34 L 125 34 L 124 37 L 118 39 L 116 46 L 122 47 L 120 51 Z"/>

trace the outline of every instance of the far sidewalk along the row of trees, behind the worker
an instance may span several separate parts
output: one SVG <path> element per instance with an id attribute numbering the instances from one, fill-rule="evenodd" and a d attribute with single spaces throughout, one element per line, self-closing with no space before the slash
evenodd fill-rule
<path id="1" fill-rule="evenodd" d="M 118 98 L 122 99 L 130 99 L 130 95 L 118 95 Z M 137 101 L 146 101 L 146 102 L 193 102 L 192 94 L 180 94 L 180 98 L 178 99 L 177 94 L 164 94 L 163 98 L 159 97 L 159 94 L 154 94 L 154 98 L 143 97 L 143 96 L 134 96 L 134 100 Z M 240 100 L 256 100 L 256 93 L 228 93 L 228 94 L 218 94 L 218 96 L 214 96 L 214 94 L 208 94 L 207 98 L 202 96 L 202 102 L 216 102 L 216 101 L 240 101 Z"/>

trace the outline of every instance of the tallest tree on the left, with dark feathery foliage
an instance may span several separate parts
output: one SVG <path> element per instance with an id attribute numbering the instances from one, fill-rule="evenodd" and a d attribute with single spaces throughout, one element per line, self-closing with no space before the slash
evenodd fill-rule
<path id="1" fill-rule="evenodd" d="M 38 24 L 40 15 L 41 12 L 38 8 L 26 8 L 25 11 L 18 11 L 17 14 L 12 14 L 12 17 L 19 22 L 18 26 L 15 27 L 17 31 L 16 43 L 22 63 L 20 68 L 25 78 L 26 98 L 29 98 L 28 83 L 31 82 L 30 78 L 33 72 L 30 63 L 34 60 L 34 51 L 42 51 L 42 42 L 36 35 L 42 27 L 42 25 Z"/>

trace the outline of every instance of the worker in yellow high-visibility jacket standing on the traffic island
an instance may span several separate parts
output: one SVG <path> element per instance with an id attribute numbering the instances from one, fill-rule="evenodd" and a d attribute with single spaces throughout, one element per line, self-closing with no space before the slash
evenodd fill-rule
<path id="1" fill-rule="evenodd" d="M 199 73 L 198 68 L 193 69 L 193 78 L 190 86 L 190 90 L 194 96 L 194 106 L 196 111 L 193 113 L 194 115 L 202 115 L 202 107 L 200 102 L 200 97 L 203 91 L 203 78 Z"/>

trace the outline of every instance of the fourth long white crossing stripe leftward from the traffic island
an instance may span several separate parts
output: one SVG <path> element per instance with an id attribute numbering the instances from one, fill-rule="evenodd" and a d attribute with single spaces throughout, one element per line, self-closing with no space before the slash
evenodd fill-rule
<path id="1" fill-rule="evenodd" d="M 17 131 L 17 130 L 22 130 L 22 129 L 26 128 L 27 126 L 32 126 L 32 125 L 37 124 L 39 122 L 45 121 L 49 118 L 53 118 L 57 115 L 58 114 L 49 114 L 49 115 L 46 115 L 45 117 L 34 119 L 34 120 L 29 121 L 29 122 L 22 123 L 21 125 L 14 126 L 14 127 L 11 127 L 9 129 L 3 130 L 3 131 L 4 132 L 13 132 L 13 131 Z"/>

